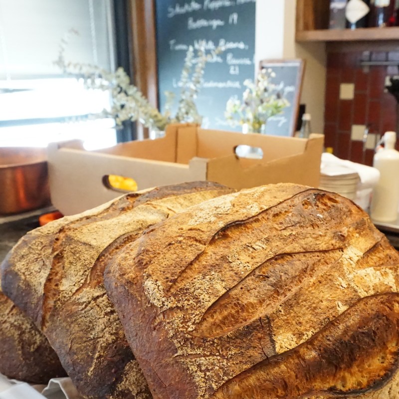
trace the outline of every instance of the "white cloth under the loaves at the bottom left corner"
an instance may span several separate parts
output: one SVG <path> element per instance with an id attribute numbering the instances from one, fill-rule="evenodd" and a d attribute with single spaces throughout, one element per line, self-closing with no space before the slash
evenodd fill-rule
<path id="1" fill-rule="evenodd" d="M 53 378 L 48 385 L 29 385 L 0 374 L 0 399 L 81 399 L 70 378 Z"/>

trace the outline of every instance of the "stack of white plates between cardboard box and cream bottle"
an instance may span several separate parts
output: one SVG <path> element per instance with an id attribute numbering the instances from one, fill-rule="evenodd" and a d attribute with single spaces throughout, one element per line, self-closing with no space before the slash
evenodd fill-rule
<path id="1" fill-rule="evenodd" d="M 322 164 L 320 189 L 332 191 L 350 200 L 355 200 L 359 183 L 359 174 L 353 169 L 337 164 Z"/>

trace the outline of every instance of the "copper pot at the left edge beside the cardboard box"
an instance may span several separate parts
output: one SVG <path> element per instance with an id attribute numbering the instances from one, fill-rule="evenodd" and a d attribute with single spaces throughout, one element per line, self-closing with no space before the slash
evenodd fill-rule
<path id="1" fill-rule="evenodd" d="M 49 204 L 46 149 L 0 148 L 0 214 Z"/>

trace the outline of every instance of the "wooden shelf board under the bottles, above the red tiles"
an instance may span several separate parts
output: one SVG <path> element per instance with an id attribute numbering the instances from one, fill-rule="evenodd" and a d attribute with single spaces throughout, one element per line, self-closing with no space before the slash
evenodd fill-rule
<path id="1" fill-rule="evenodd" d="M 296 41 L 375 41 L 398 40 L 399 27 L 361 29 L 315 29 L 299 30 Z"/>

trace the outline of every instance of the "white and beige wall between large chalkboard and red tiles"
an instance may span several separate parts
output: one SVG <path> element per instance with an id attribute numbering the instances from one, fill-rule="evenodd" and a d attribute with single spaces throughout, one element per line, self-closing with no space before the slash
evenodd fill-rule
<path id="1" fill-rule="evenodd" d="M 301 103 L 312 115 L 312 130 L 324 133 L 325 44 L 296 43 L 295 15 L 296 0 L 256 0 L 255 67 L 261 59 L 305 59 Z"/>

